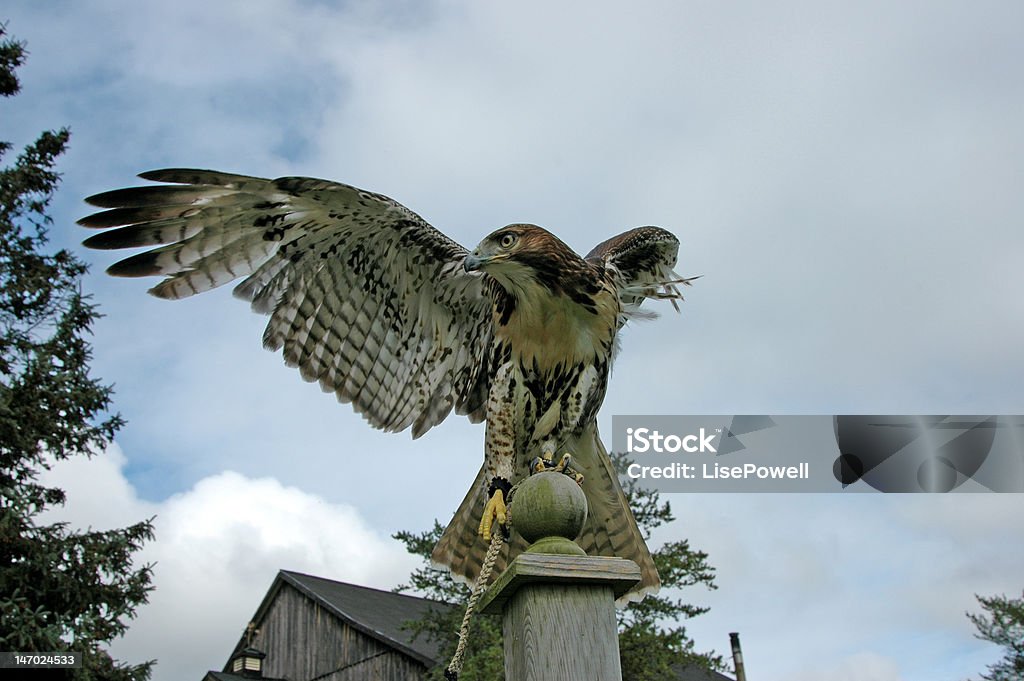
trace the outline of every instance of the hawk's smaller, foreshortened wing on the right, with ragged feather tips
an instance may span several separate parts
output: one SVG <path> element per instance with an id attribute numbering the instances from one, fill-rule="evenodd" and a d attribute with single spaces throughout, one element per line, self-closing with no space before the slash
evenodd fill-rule
<path id="1" fill-rule="evenodd" d="M 587 260 L 604 267 L 611 275 L 623 310 L 618 326 L 629 320 L 651 318 L 653 312 L 640 309 L 644 298 L 683 299 L 679 286 L 690 286 L 696 276 L 682 278 L 675 272 L 679 240 L 662 227 L 637 227 L 601 242 L 587 254 Z"/>

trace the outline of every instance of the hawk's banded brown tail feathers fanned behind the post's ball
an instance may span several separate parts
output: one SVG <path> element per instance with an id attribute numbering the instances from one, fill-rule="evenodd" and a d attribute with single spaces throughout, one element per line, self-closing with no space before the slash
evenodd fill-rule
<path id="1" fill-rule="evenodd" d="M 618 602 L 641 600 L 656 592 L 662 582 L 596 425 L 588 428 L 574 444 L 566 449 L 573 456 L 573 466 L 585 475 L 583 490 L 588 505 L 587 522 L 577 544 L 591 556 L 614 556 L 636 562 L 640 566 L 640 582 Z M 476 534 L 486 502 L 487 482 L 481 467 L 431 555 L 436 565 L 446 567 L 457 581 L 469 585 L 476 582 L 487 551 L 487 543 Z M 515 531 L 513 517 L 512 538 L 502 548 L 493 574 L 500 574 L 526 548 L 526 542 Z"/>

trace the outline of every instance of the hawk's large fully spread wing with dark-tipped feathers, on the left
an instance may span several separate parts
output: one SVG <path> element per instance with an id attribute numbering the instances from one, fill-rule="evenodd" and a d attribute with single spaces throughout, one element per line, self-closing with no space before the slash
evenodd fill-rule
<path id="1" fill-rule="evenodd" d="M 169 184 L 86 201 L 79 220 L 117 227 L 98 249 L 159 246 L 108 270 L 164 275 L 185 298 L 245 278 L 234 295 L 270 315 L 263 345 L 371 424 L 418 437 L 453 409 L 481 420 L 490 301 L 466 250 L 387 197 L 308 177 L 157 170 Z"/>

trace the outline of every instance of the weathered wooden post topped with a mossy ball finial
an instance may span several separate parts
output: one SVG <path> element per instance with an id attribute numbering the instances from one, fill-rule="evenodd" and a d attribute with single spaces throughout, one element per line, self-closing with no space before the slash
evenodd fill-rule
<path id="1" fill-rule="evenodd" d="M 587 517 L 580 486 L 538 473 L 516 491 L 512 526 L 532 546 L 487 589 L 502 612 L 507 681 L 622 681 L 614 600 L 640 581 L 632 560 L 588 556 L 572 540 Z"/>

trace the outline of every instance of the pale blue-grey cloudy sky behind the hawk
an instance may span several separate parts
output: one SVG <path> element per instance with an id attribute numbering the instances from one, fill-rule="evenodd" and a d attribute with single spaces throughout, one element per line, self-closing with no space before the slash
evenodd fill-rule
<path id="1" fill-rule="evenodd" d="M 65 517 L 157 515 L 152 602 L 116 654 L 219 668 L 279 568 L 381 588 L 481 457 L 451 419 L 373 431 L 218 291 L 167 303 L 76 245 L 85 196 L 194 166 L 334 178 L 460 243 L 528 221 L 578 251 L 679 236 L 683 313 L 630 328 L 613 414 L 1024 413 L 1019 2 L 89 3 L 10 0 L 29 44 L 0 138 L 72 128 L 52 237 L 105 314 L 128 420 L 57 467 Z M 671 310 L 670 310 L 671 311 Z M 382 482 L 379 470 L 396 471 Z M 983 671 L 973 594 L 1024 588 L 1021 495 L 673 495 L 710 554 L 690 631 L 760 681 Z"/>

